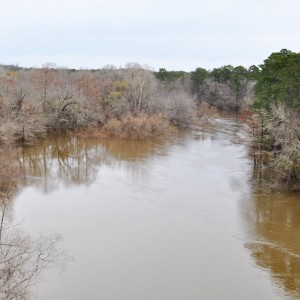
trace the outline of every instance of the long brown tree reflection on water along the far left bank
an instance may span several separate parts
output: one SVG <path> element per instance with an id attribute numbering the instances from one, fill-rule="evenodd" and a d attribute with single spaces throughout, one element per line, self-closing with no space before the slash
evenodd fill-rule
<path id="1" fill-rule="evenodd" d="M 101 165 L 117 166 L 120 161 L 134 161 L 163 154 L 163 140 L 128 141 L 80 139 L 53 136 L 36 147 L 24 147 L 18 158 L 24 186 L 36 185 L 45 192 L 65 185 L 91 184 Z M 133 170 L 134 171 L 134 170 Z"/>

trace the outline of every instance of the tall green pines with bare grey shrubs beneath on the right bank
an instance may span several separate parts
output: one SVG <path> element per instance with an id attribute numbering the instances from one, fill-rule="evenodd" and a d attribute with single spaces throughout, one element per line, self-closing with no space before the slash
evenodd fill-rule
<path id="1" fill-rule="evenodd" d="M 300 189 L 299 62 L 300 53 L 283 49 L 260 66 L 249 132 L 251 148 L 269 154 L 271 177 L 291 189 Z"/>

